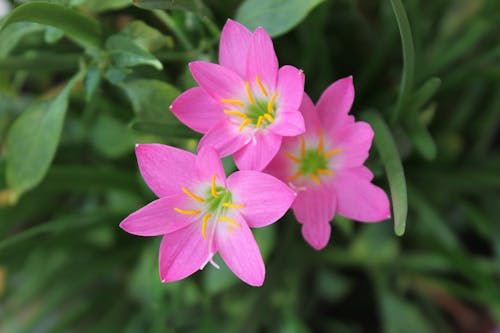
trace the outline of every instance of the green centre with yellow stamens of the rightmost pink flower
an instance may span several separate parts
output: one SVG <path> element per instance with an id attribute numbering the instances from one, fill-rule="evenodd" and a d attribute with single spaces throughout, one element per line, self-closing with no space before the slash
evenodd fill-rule
<path id="1" fill-rule="evenodd" d="M 288 178 L 289 181 L 300 177 L 309 177 L 316 184 L 321 184 L 320 178 L 333 176 L 333 171 L 328 167 L 328 159 L 333 155 L 342 152 L 340 149 L 332 149 L 324 152 L 323 133 L 320 132 L 318 146 L 314 149 L 306 149 L 304 136 L 300 137 L 300 157 L 296 157 L 288 152 L 285 156 L 297 164 L 298 170 Z"/>

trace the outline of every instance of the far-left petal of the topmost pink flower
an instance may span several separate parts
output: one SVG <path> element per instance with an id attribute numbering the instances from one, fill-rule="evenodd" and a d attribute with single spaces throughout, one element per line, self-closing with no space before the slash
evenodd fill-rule
<path id="1" fill-rule="evenodd" d="M 223 107 L 200 87 L 182 93 L 172 103 L 172 113 L 189 128 L 205 133 L 224 118 Z"/>

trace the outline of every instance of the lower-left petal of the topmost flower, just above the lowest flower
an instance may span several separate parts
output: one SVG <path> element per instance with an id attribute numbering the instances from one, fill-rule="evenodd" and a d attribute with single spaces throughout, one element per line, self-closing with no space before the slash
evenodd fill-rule
<path id="1" fill-rule="evenodd" d="M 220 157 L 233 154 L 248 141 L 248 136 L 238 131 L 238 126 L 226 119 L 218 122 L 200 140 L 198 151 L 205 146 L 213 147 Z"/>

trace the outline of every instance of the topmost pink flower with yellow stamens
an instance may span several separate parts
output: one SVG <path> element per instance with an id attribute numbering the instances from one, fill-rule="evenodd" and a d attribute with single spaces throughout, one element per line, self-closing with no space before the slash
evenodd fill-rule
<path id="1" fill-rule="evenodd" d="M 221 157 L 234 154 L 240 170 L 262 170 L 276 155 L 283 136 L 304 133 L 299 107 L 304 74 L 278 68 L 271 38 L 228 20 L 222 30 L 220 65 L 189 64 L 199 87 L 170 106 L 184 124 L 205 135 L 199 149 L 213 146 Z"/>

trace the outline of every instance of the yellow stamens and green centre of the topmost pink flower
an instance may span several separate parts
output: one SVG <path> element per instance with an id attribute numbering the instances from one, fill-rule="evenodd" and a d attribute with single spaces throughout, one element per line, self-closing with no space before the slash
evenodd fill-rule
<path id="1" fill-rule="evenodd" d="M 225 109 L 224 113 L 235 116 L 240 122 L 239 131 L 243 131 L 246 126 L 255 129 L 264 129 L 274 122 L 274 113 L 277 109 L 275 105 L 278 94 L 275 92 L 269 97 L 264 84 L 259 76 L 255 77 L 257 83 L 257 92 L 252 91 L 249 82 L 245 82 L 245 90 L 248 102 L 244 103 L 239 99 L 221 99 L 222 103 L 232 105 L 231 109 Z"/>

